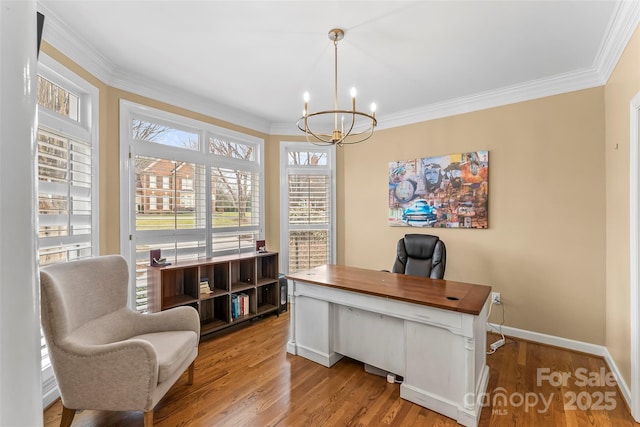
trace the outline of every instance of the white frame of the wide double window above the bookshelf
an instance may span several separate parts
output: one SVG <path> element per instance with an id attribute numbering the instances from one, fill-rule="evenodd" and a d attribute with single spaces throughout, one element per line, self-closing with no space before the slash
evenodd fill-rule
<path id="1" fill-rule="evenodd" d="M 180 149 L 181 161 L 188 161 L 197 164 L 203 164 L 207 168 L 211 167 L 226 167 L 226 168 L 245 168 L 246 161 L 226 158 L 223 156 L 210 155 L 208 153 L 209 146 L 207 145 L 208 138 L 210 136 L 217 136 L 225 138 L 238 143 L 246 143 L 255 148 L 254 158 L 251 171 L 258 176 L 260 194 L 260 200 L 258 204 L 259 209 L 259 226 L 255 230 L 258 233 L 260 239 L 264 239 L 264 224 L 265 224 L 265 200 L 264 200 L 264 139 L 257 138 L 252 135 L 232 131 L 219 126 L 212 125 L 210 123 L 202 122 L 199 120 L 184 117 L 178 114 L 169 113 L 167 111 L 159 110 L 156 108 L 148 107 L 145 105 L 137 104 L 134 102 L 120 100 L 120 250 L 121 254 L 127 259 L 130 269 L 130 283 L 129 283 L 129 306 L 132 309 L 136 309 L 136 238 L 135 238 L 135 224 L 136 224 L 136 198 L 135 198 L 135 165 L 134 161 L 137 155 L 172 159 L 175 156 L 175 147 L 171 147 L 164 144 L 158 144 L 153 142 L 138 142 L 134 143 L 131 138 L 131 132 L 129 124 L 132 118 L 149 119 L 154 123 L 166 125 L 173 129 L 184 130 L 198 134 L 200 146 L 198 149 L 187 150 Z M 205 157 L 208 157 L 205 160 Z M 210 183 L 206 184 L 207 186 Z M 210 194 L 210 191 L 207 191 Z M 158 206 L 157 206 L 158 207 Z M 225 228 L 212 228 L 212 215 L 211 204 L 206 203 L 206 235 L 205 241 L 207 246 L 206 256 L 212 256 L 212 234 L 215 232 L 224 233 L 230 229 Z M 191 230 L 185 230 L 182 234 L 189 234 Z M 198 231 L 198 230 L 195 230 Z M 158 231 L 158 236 L 171 233 L 172 231 Z M 228 251 L 228 253 L 234 253 L 237 251 Z M 216 255 L 224 255 L 224 252 L 217 252 Z"/>

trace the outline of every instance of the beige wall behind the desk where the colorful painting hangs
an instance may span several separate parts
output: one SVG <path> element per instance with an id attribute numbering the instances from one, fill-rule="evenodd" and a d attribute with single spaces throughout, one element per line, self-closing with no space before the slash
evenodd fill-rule
<path id="1" fill-rule="evenodd" d="M 505 323 L 605 343 L 604 88 L 376 132 L 343 150 L 344 263 L 390 269 L 405 233 L 447 245 L 445 278 L 502 293 Z M 489 150 L 489 229 L 387 226 L 391 161 Z M 495 309 L 491 321 L 501 320 Z"/>

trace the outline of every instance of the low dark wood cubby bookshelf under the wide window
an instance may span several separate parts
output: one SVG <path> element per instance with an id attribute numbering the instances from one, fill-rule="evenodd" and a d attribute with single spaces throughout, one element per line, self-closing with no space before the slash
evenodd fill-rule
<path id="1" fill-rule="evenodd" d="M 202 258 L 147 270 L 149 311 L 191 305 L 200 315 L 201 335 L 279 314 L 277 252 Z M 208 282 L 211 292 L 201 293 L 201 281 Z M 234 295 L 248 297 L 248 310 L 234 312 Z"/>

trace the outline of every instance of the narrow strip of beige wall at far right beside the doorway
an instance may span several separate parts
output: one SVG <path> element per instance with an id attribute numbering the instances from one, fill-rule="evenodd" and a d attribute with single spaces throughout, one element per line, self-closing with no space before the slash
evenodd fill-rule
<path id="1" fill-rule="evenodd" d="M 639 31 L 636 29 L 627 44 L 605 90 L 606 345 L 627 384 L 631 379 L 629 107 L 631 99 L 640 91 Z"/>

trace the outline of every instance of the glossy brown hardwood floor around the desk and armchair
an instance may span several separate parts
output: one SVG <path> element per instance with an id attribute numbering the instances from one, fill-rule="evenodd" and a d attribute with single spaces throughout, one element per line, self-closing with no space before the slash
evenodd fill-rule
<path id="1" fill-rule="evenodd" d="M 268 316 L 204 340 L 195 379 L 178 380 L 155 409 L 156 426 L 457 426 L 400 398 L 399 384 L 344 358 L 327 369 L 286 353 L 289 315 Z M 490 336 L 488 342 L 495 341 Z M 425 360 L 425 363 L 429 363 Z M 507 338 L 487 356 L 480 426 L 640 426 L 602 358 Z M 539 370 L 542 368 L 542 370 Z M 562 381 L 562 373 L 565 381 Z M 583 384 L 584 383 L 584 384 Z M 575 397 L 575 398 L 574 398 Z M 58 426 L 62 405 L 44 412 Z M 142 426 L 142 412 L 78 412 L 73 426 Z"/>

